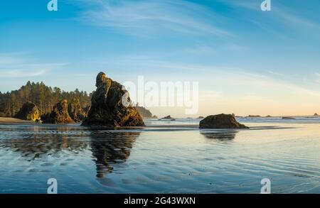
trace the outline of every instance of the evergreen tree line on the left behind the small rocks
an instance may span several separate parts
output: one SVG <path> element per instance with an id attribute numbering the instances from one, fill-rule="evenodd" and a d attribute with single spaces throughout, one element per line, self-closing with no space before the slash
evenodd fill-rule
<path id="1" fill-rule="evenodd" d="M 72 92 L 65 92 L 59 87 L 48 87 L 43 82 L 30 82 L 18 90 L 11 92 L 0 92 L 0 116 L 15 116 L 26 102 L 33 102 L 40 109 L 41 114 L 47 114 L 53 110 L 53 106 L 61 99 L 72 102 L 79 99 L 80 106 L 88 109 L 91 104 L 92 93 L 75 89 Z"/>

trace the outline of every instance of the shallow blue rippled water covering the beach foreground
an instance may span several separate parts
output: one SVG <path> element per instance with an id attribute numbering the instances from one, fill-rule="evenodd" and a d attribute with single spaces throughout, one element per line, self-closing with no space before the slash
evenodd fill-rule
<path id="1" fill-rule="evenodd" d="M 307 121 L 304 121 L 307 120 Z M 92 131 L 0 124 L 0 192 L 320 193 L 320 122 L 239 119 L 249 130 L 199 130 L 198 119 Z"/>

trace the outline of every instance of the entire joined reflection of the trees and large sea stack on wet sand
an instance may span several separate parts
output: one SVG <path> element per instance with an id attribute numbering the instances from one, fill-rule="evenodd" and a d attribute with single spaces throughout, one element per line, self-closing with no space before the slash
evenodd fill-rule
<path id="1" fill-rule="evenodd" d="M 21 153 L 28 161 L 91 150 L 97 177 L 112 173 L 112 164 L 125 162 L 132 144 L 140 135 L 139 132 L 92 131 L 75 126 L 28 126 L 5 130 L 0 136 L 4 137 L 0 139 L 0 148 Z"/>

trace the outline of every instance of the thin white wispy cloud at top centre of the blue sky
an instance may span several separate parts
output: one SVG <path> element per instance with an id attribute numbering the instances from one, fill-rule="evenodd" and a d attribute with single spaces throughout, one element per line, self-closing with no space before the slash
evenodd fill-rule
<path id="1" fill-rule="evenodd" d="M 90 3 L 92 4 L 92 3 Z M 230 35 L 223 17 L 188 1 L 94 1 L 82 21 L 146 36 L 164 33 Z M 218 26 L 220 25 L 220 26 Z"/>

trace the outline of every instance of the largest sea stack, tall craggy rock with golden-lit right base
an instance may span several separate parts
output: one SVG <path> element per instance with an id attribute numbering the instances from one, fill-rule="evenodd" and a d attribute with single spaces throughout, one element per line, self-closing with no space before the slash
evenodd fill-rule
<path id="1" fill-rule="evenodd" d="M 142 116 L 132 106 L 129 93 L 108 78 L 104 72 L 97 75 L 96 91 L 92 94 L 91 108 L 83 126 L 116 128 L 120 126 L 144 126 Z"/>

